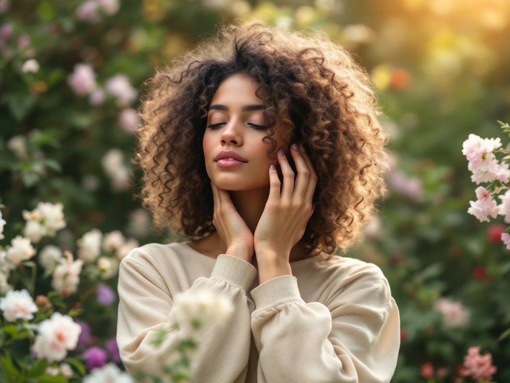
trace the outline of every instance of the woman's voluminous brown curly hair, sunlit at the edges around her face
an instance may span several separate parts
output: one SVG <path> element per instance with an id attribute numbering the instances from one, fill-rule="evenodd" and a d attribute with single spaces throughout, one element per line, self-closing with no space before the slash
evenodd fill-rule
<path id="1" fill-rule="evenodd" d="M 247 74 L 264 88 L 264 142 L 274 127 L 303 143 L 318 182 L 315 212 L 303 235 L 307 251 L 343 254 L 373 218 L 374 201 L 387 191 L 382 177 L 387 133 L 378 117 L 366 70 L 322 33 L 281 30 L 252 20 L 220 24 L 171 65 L 155 68 L 138 113 L 138 151 L 143 171 L 138 197 L 154 218 L 177 235 L 198 239 L 216 229 L 214 200 L 202 138 L 209 103 L 228 76 Z M 260 97 L 260 96 L 259 96 Z"/>

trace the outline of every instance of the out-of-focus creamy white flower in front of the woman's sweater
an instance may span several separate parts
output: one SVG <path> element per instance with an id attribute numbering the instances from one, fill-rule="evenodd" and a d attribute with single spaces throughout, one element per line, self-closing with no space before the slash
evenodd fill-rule
<path id="1" fill-rule="evenodd" d="M 171 315 L 181 326 L 187 327 L 193 320 L 199 320 L 207 326 L 225 323 L 233 311 L 234 306 L 229 297 L 201 289 L 177 294 Z"/>

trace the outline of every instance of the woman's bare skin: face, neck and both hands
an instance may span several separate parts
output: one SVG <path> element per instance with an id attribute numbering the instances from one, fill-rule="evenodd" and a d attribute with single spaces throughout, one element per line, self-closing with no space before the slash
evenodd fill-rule
<path id="1" fill-rule="evenodd" d="M 291 150 L 284 139 L 288 142 L 289 137 L 283 137 L 278 127 L 272 138 L 284 155 L 268 158 L 271 145 L 262 141 L 266 130 L 249 125 L 267 124 L 263 109 L 242 110 L 246 105 L 263 105 L 255 94 L 258 86 L 248 75 L 232 75 L 220 84 L 211 100 L 202 147 L 213 189 L 217 231 L 190 246 L 214 258 L 225 253 L 251 262 L 258 267 L 259 282 L 263 283 L 279 275 L 292 275 L 290 262 L 318 253 L 307 254 L 301 241 L 313 214 L 317 176 L 304 150 Z M 217 109 L 217 105 L 228 110 Z M 214 158 L 221 150 L 234 150 L 248 162 L 220 167 Z M 282 190 L 277 170 L 282 173 Z"/>

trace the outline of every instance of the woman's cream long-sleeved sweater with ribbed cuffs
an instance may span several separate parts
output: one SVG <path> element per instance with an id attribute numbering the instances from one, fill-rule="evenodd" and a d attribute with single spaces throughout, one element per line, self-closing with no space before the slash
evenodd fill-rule
<path id="1" fill-rule="evenodd" d="M 118 281 L 117 344 L 126 370 L 157 374 L 168 365 L 179 334 L 160 348 L 150 336 L 168 326 L 175 294 L 206 288 L 230 296 L 235 310 L 223 327 L 200 330 L 196 383 L 389 382 L 400 316 L 388 280 L 374 264 L 326 258 L 291 262 L 293 275 L 258 285 L 257 268 L 233 255 L 214 259 L 186 243 L 131 250 Z"/>

